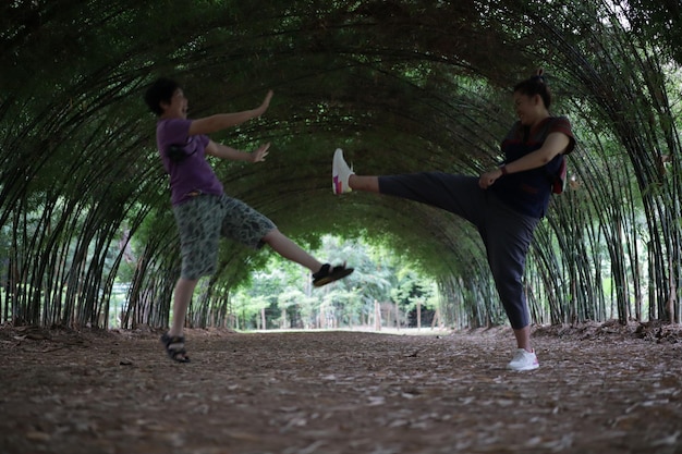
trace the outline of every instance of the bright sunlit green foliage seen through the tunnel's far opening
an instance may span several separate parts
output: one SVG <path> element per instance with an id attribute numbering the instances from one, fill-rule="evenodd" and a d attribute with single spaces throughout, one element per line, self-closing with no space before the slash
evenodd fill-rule
<path id="1" fill-rule="evenodd" d="M 363 240 L 342 241 L 324 236 L 314 255 L 331 263 L 348 260 L 353 274 L 328 287 L 312 289 L 307 270 L 277 255 L 270 255 L 263 269 L 255 270 L 248 284 L 231 296 L 242 329 L 328 328 L 367 323 L 375 302 L 394 303 L 404 312 L 417 300 L 425 309 L 436 308 L 435 281 L 411 267 L 404 257 Z"/>

